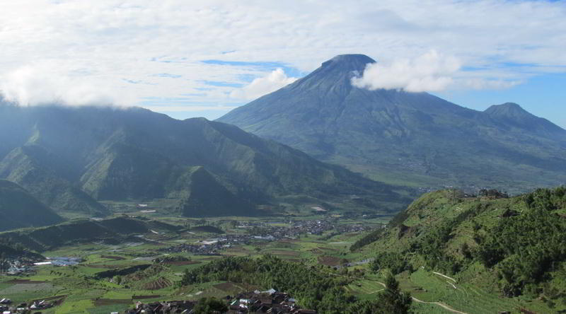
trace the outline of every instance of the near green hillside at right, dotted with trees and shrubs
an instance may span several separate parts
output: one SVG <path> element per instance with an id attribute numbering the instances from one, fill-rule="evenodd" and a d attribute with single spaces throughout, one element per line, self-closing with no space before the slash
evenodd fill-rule
<path id="1" fill-rule="evenodd" d="M 456 286 L 541 301 L 543 313 L 558 313 L 566 309 L 565 217 L 566 187 L 512 198 L 443 190 L 420 197 L 352 250 L 375 257 L 374 270 L 391 269 L 413 285 L 422 272 L 439 272 Z"/>

